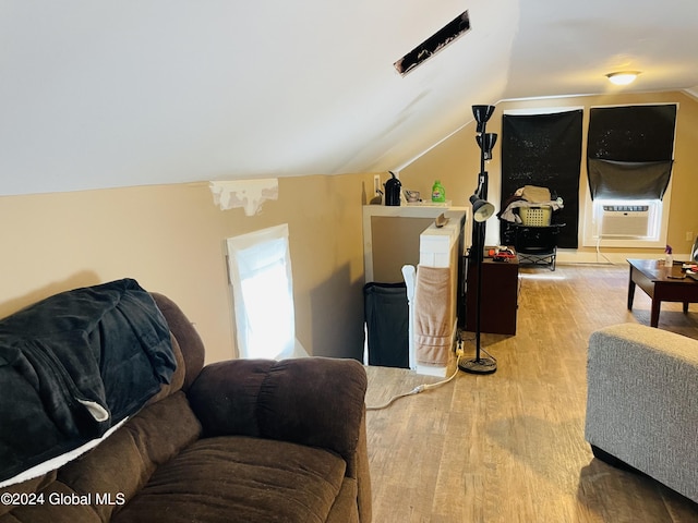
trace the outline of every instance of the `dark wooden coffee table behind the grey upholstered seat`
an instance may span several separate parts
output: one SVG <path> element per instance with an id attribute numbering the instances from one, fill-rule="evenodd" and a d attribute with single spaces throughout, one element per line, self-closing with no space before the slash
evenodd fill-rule
<path id="1" fill-rule="evenodd" d="M 683 278 L 681 265 L 664 266 L 664 262 L 655 259 L 628 259 L 630 265 L 630 281 L 628 283 L 628 311 L 633 309 L 635 287 L 639 285 L 652 299 L 650 325 L 659 324 L 659 312 L 662 302 L 681 302 L 684 313 L 688 312 L 689 303 L 698 303 L 698 281 Z M 670 278 L 670 276 L 674 278 Z"/>

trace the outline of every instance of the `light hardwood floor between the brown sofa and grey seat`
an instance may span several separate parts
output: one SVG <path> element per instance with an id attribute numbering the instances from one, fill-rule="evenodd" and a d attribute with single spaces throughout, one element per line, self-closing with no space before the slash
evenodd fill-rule
<path id="1" fill-rule="evenodd" d="M 368 413 L 375 523 L 697 522 L 698 504 L 593 459 L 583 437 L 589 335 L 649 325 L 627 266 L 522 268 L 516 336 L 483 335 L 489 376 L 449 384 Z M 698 305 L 664 304 L 659 328 L 698 338 Z M 465 344 L 472 357 L 472 333 Z M 455 362 L 452 363 L 455 368 Z M 366 403 L 437 378 L 368 367 Z"/>

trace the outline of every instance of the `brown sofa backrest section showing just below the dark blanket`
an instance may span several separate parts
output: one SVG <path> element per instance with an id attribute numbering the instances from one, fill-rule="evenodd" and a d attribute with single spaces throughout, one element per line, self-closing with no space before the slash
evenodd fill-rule
<path id="1" fill-rule="evenodd" d="M 157 466 L 198 439 L 200 434 L 201 425 L 186 397 L 182 391 L 176 392 L 143 409 L 98 447 L 58 472 L 1 490 L 32 494 L 17 499 L 44 502 L 25 507 L 2 503 L 0 514 L 10 512 L 5 519 L 0 515 L 0 523 L 109 521 L 112 512 L 146 484 Z"/>

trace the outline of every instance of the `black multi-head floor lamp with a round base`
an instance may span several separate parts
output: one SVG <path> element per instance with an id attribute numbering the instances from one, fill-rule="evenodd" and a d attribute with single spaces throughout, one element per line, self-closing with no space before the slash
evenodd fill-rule
<path id="1" fill-rule="evenodd" d="M 488 202 L 488 172 L 484 170 L 485 160 L 492 158 L 492 148 L 497 141 L 497 135 L 486 133 L 486 123 L 494 112 L 494 106 L 472 106 L 472 113 L 478 122 L 477 136 L 480 146 L 480 174 L 478 188 L 470 196 L 472 205 L 472 247 L 470 248 L 470 262 L 476 264 L 478 282 L 476 290 L 476 357 L 458 363 L 458 368 L 471 374 L 492 374 L 497 369 L 497 362 L 492 357 L 482 357 L 480 354 L 480 316 L 482 312 L 482 262 L 484 256 L 485 222 L 494 214 L 494 205 Z"/>

